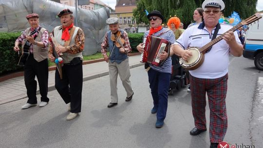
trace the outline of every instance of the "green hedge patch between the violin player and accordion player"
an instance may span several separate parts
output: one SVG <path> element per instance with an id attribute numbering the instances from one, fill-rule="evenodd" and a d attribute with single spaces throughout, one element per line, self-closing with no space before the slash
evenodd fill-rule
<path id="1" fill-rule="evenodd" d="M 132 53 L 138 52 L 138 50 L 136 49 L 136 47 L 137 47 L 137 45 L 139 45 L 140 43 L 142 43 L 142 41 L 143 41 L 143 35 L 144 35 L 143 33 L 128 34 L 129 40 L 130 40 L 130 45 L 131 45 Z"/>

